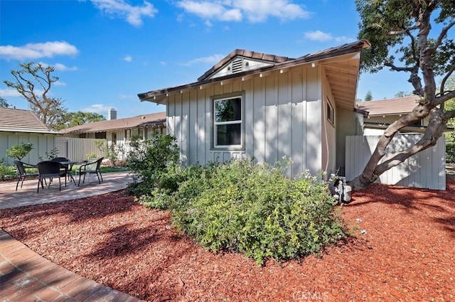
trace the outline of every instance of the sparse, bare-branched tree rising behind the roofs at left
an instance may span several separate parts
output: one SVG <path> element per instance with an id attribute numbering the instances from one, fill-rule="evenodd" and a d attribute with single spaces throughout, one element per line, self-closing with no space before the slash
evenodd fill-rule
<path id="1" fill-rule="evenodd" d="M 52 75 L 53 66 L 41 63 L 21 63 L 20 70 L 11 70 L 15 82 L 4 80 L 6 86 L 16 89 L 29 103 L 29 107 L 36 113 L 41 122 L 50 129 L 63 124 L 67 109 L 63 107 L 63 100 L 49 97 L 50 88 L 58 77 Z"/>

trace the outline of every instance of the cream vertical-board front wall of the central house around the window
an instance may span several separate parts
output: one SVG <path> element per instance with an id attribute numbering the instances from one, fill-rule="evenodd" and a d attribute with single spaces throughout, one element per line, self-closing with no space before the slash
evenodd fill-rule
<path id="1" fill-rule="evenodd" d="M 235 78 L 168 95 L 167 133 L 176 136 L 181 160 L 205 165 L 231 158 L 275 163 L 284 156 L 287 171 L 321 172 L 321 82 L 319 68 L 294 68 L 263 77 Z M 212 148 L 213 97 L 242 94 L 242 150 Z"/>

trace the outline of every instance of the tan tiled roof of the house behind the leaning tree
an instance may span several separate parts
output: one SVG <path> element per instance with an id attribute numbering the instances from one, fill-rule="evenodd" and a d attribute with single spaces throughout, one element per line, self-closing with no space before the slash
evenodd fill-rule
<path id="1" fill-rule="evenodd" d="M 370 117 L 379 115 L 408 114 L 417 106 L 418 95 L 407 97 L 396 97 L 394 99 L 380 99 L 369 102 L 358 102 L 355 104 L 356 111 Z"/>

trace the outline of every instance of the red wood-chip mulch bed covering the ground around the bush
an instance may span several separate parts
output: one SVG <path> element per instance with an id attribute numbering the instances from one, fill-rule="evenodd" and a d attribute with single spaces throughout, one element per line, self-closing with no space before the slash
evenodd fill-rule
<path id="1" fill-rule="evenodd" d="M 4 210 L 0 226 L 81 276 L 147 301 L 455 301 L 455 180 L 373 185 L 340 207 L 353 232 L 322 257 L 257 266 L 178 234 L 122 192 Z"/>

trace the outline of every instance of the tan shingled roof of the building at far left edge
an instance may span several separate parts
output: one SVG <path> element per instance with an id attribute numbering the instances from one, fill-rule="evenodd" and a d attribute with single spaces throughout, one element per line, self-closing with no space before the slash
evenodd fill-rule
<path id="1" fill-rule="evenodd" d="M 35 112 L 24 109 L 0 108 L 0 131 L 52 133 Z"/>

